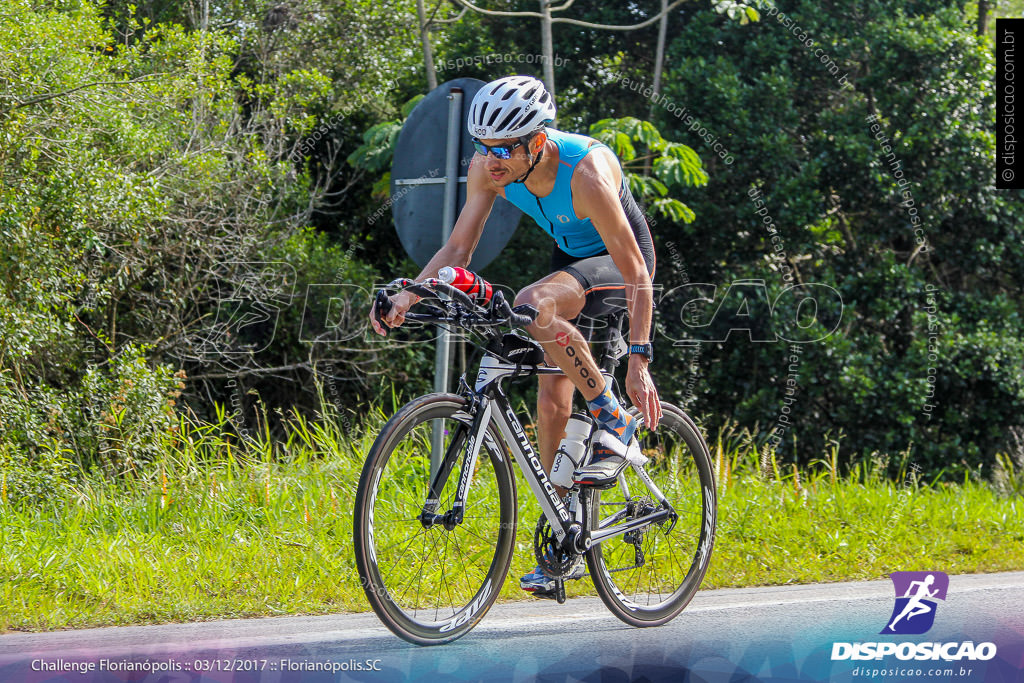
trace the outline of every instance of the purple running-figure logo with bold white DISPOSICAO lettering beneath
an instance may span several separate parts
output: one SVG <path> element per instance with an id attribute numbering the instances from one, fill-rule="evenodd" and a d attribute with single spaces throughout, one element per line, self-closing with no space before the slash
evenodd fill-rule
<path id="1" fill-rule="evenodd" d="M 882 630 L 882 635 L 920 635 L 935 624 L 937 600 L 946 599 L 949 577 L 942 571 L 894 571 L 890 574 L 896 589 L 896 604 Z M 897 659 L 954 661 L 987 660 L 995 656 L 994 643 L 964 642 L 867 642 L 833 643 L 831 659 Z"/>

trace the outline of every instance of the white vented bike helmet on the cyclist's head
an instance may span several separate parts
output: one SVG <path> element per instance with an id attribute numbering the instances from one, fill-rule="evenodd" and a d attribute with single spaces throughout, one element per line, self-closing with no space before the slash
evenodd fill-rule
<path id="1" fill-rule="evenodd" d="M 469 105 L 469 134 L 479 139 L 522 137 L 555 118 L 555 102 L 531 76 L 507 76 L 477 90 Z"/>

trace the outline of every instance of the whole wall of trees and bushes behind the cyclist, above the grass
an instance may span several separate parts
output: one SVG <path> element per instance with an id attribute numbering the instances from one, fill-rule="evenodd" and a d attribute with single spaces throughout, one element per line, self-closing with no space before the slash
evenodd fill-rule
<path id="1" fill-rule="evenodd" d="M 627 25 L 655 6 L 572 12 Z M 650 82 L 656 24 L 556 25 L 559 125 L 633 157 L 667 293 L 655 374 L 712 433 L 737 421 L 803 463 L 840 439 L 843 467 L 907 449 L 930 476 L 1021 466 L 1024 203 L 994 189 L 976 12 L 788 0 L 740 23 L 686 3 L 657 102 L 624 80 Z M 368 339 L 353 294 L 414 269 L 368 218 L 403 105 L 426 90 L 415 16 L 408 0 L 4 3 L 4 500 L 59 498 L 79 466 L 140 475 L 182 414 L 220 407 L 236 440 L 283 434 L 290 412 L 347 430 L 382 383 L 428 386 L 432 347 Z M 431 40 L 438 65 L 541 44 L 535 19 L 472 12 Z M 439 80 L 541 72 L 477 62 Z M 484 274 L 518 287 L 547 254 L 524 224 Z M 764 288 L 731 287 L 752 280 Z M 693 288 L 676 288 L 695 283 L 714 303 L 684 315 Z M 780 296 L 793 285 L 812 287 Z M 783 331 L 805 342 L 796 362 Z"/>

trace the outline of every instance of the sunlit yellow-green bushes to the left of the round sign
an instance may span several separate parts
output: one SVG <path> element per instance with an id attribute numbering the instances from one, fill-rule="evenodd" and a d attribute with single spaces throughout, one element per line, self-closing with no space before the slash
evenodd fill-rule
<path id="1" fill-rule="evenodd" d="M 298 340 L 326 314 L 306 284 L 373 279 L 308 228 L 329 183 L 294 161 L 334 77 L 267 81 L 246 36 L 126 20 L 117 42 L 91 3 L 0 14 L 0 440 L 118 472 L 173 437 L 175 369 L 200 415 L 254 385 L 298 402 L 276 387 L 328 352 Z"/>

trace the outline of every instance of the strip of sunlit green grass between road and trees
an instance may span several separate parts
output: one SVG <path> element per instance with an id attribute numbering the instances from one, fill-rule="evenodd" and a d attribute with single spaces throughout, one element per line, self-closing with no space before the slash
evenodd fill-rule
<path id="1" fill-rule="evenodd" d="M 0 632 L 369 609 L 352 506 L 384 412 L 355 428 L 293 418 L 279 442 L 240 442 L 220 417 L 182 418 L 165 458 L 131 477 L 86 476 L 48 505 L 0 501 Z M 841 439 L 802 471 L 733 427 L 710 441 L 719 526 L 703 589 L 1024 569 L 1019 487 L 922 481 L 909 454 L 895 480 L 886 458 L 841 471 Z M 535 564 L 540 509 L 517 484 L 504 600 L 523 599 L 518 577 Z"/>

